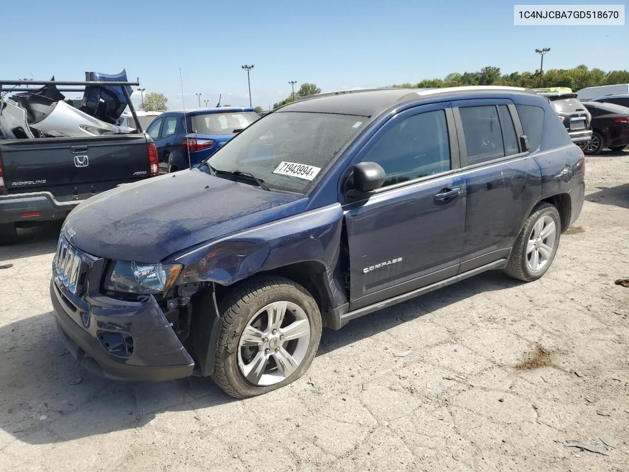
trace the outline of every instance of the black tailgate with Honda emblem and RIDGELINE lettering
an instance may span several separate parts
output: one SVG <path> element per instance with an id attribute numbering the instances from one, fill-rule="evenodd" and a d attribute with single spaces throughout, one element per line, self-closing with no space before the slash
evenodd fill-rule
<path id="1" fill-rule="evenodd" d="M 1 146 L 9 194 L 50 191 L 58 201 L 81 200 L 150 175 L 143 134 L 6 140 Z"/>

